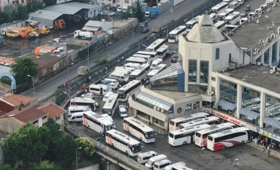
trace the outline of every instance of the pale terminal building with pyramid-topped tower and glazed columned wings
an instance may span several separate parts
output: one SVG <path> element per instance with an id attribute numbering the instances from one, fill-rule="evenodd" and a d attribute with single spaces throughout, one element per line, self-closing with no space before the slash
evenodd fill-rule
<path id="1" fill-rule="evenodd" d="M 251 64 L 252 57 L 203 16 L 180 36 L 179 62 L 151 77 L 129 106 L 165 130 L 171 119 L 208 112 L 280 142 L 278 67 Z"/>

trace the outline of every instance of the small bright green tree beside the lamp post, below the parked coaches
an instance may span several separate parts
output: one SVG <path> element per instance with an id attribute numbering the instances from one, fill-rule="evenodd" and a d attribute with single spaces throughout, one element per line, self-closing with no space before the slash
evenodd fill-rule
<path id="1" fill-rule="evenodd" d="M 82 151 L 88 157 L 91 157 L 95 153 L 94 143 L 86 137 L 79 137 L 76 139 L 79 147 L 82 147 Z"/>

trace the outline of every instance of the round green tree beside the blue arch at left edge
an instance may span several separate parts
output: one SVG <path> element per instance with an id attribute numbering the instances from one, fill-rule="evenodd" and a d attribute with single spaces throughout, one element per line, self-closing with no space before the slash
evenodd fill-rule
<path id="1" fill-rule="evenodd" d="M 19 83 L 32 82 L 32 77 L 27 75 L 38 76 L 37 64 L 32 56 L 16 58 L 15 63 L 11 64 L 11 72 Z"/>

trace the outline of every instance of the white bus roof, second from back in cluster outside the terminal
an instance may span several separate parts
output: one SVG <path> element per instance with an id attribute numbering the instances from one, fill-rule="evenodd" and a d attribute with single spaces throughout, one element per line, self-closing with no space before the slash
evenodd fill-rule
<path id="1" fill-rule="evenodd" d="M 213 124 L 218 124 L 219 121 L 220 121 L 220 118 L 218 118 L 216 116 L 210 116 L 207 118 L 193 120 L 193 121 L 190 121 L 187 123 L 182 123 L 181 125 L 179 125 L 179 128 L 184 129 L 186 127 L 197 126 L 197 125 L 202 125 L 202 124 L 213 125 Z"/>

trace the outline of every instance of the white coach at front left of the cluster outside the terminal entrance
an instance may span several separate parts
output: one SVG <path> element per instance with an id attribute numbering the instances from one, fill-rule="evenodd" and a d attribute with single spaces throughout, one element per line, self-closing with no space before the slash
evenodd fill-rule
<path id="1" fill-rule="evenodd" d="M 199 126 L 187 127 L 184 129 L 169 132 L 168 143 L 173 146 L 185 145 L 194 142 L 195 132 L 201 129 L 210 128 L 211 125 L 203 124 Z"/>

